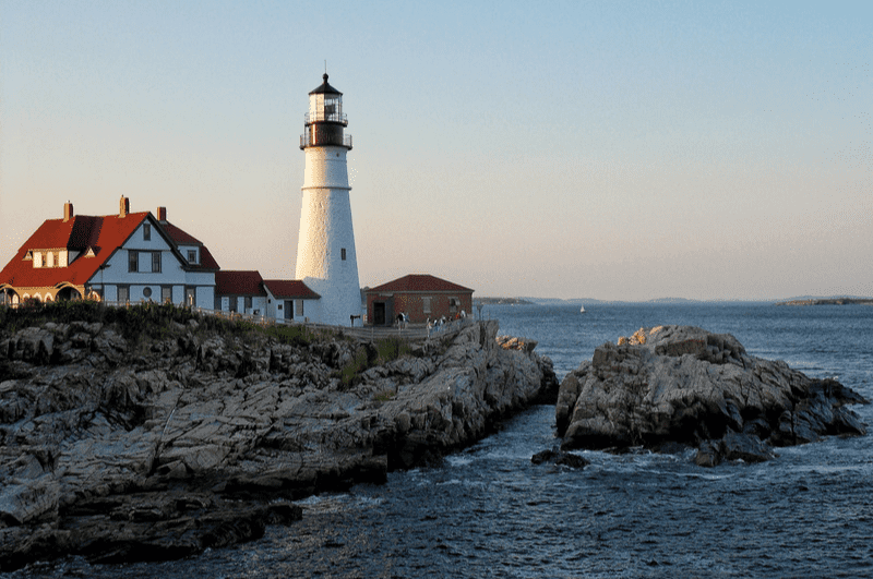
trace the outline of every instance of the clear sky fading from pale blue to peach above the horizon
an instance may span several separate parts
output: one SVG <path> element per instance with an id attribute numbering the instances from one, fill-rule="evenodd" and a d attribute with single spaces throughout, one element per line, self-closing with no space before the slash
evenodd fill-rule
<path id="1" fill-rule="evenodd" d="M 0 0 L 0 262 L 125 195 L 294 278 L 326 62 L 361 286 L 873 295 L 871 29 L 871 2 Z"/>

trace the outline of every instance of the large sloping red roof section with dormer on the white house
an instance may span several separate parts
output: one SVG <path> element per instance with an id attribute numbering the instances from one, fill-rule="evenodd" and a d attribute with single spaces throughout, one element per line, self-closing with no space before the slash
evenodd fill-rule
<path id="1" fill-rule="evenodd" d="M 72 219 L 46 219 L 0 272 L 0 284 L 20 288 L 53 287 L 69 282 L 82 286 L 130 238 L 148 216 L 148 212 L 127 217 L 76 215 Z M 70 250 L 81 252 L 67 267 L 34 267 L 24 256 L 31 250 Z M 94 257 L 85 252 L 94 250 Z"/>

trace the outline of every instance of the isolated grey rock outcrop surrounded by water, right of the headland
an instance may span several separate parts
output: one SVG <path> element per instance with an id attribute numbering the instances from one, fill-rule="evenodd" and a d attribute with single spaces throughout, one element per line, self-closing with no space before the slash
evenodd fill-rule
<path id="1" fill-rule="evenodd" d="M 866 403 L 833 379 L 746 354 L 728 334 L 639 329 L 597 348 L 561 383 L 562 448 L 698 448 L 696 461 L 766 460 L 773 447 L 865 434 L 846 405 Z"/>

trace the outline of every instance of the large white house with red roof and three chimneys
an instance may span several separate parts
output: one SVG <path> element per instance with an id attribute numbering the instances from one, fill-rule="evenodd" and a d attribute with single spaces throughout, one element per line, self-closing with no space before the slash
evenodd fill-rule
<path id="1" fill-rule="evenodd" d="M 208 250 L 167 221 L 167 210 L 47 219 L 0 272 L 0 303 L 91 298 L 174 302 L 212 309 L 215 272 Z"/>

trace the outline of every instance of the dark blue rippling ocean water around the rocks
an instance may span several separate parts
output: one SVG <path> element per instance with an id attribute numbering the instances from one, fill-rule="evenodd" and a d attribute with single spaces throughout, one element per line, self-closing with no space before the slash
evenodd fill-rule
<path id="1" fill-rule="evenodd" d="M 733 334 L 749 353 L 836 377 L 873 399 L 873 306 L 770 304 L 486 306 L 501 333 L 539 340 L 559 379 L 639 327 Z M 873 406 L 854 410 L 873 425 Z M 584 470 L 535 466 L 555 446 L 535 407 L 435 468 L 303 502 L 303 520 L 179 562 L 81 558 L 21 577 L 870 577 L 871 437 L 782 448 L 760 465 L 704 469 L 693 453 L 581 453 Z"/>

